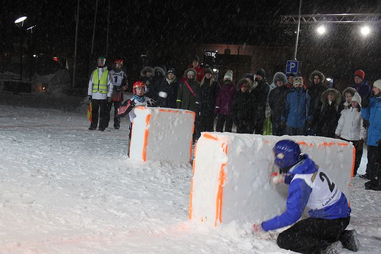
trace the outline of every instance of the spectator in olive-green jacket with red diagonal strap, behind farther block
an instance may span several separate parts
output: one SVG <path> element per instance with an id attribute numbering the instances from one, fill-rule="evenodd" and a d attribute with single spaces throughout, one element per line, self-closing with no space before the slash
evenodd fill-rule
<path id="1" fill-rule="evenodd" d="M 187 68 L 184 72 L 186 79 L 180 83 L 177 91 L 176 107 L 187 109 L 198 113 L 197 93 L 200 88 L 200 82 L 196 80 L 197 71 L 194 68 Z M 196 121 L 196 120 L 195 120 Z M 197 126 L 195 123 L 195 131 L 193 132 L 193 142 L 196 142 Z"/>

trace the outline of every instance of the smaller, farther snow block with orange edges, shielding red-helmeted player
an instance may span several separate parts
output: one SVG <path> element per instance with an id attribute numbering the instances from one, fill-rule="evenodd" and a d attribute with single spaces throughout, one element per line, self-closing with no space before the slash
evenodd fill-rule
<path id="1" fill-rule="evenodd" d="M 183 109 L 135 107 L 130 158 L 188 163 L 196 113 Z"/>

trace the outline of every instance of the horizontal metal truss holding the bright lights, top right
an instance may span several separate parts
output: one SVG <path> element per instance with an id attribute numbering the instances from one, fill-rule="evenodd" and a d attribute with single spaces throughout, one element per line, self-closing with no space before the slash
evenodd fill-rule
<path id="1" fill-rule="evenodd" d="M 299 15 L 287 15 L 280 17 L 280 24 L 298 24 Z M 301 23 L 381 23 L 381 13 L 369 14 L 316 14 L 300 15 Z"/>

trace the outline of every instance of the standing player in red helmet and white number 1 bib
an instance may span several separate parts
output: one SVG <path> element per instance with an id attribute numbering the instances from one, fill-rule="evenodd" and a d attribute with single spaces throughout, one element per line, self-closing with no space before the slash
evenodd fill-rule
<path id="1" fill-rule="evenodd" d="M 114 60 L 114 70 L 110 71 L 112 84 L 113 84 L 113 91 L 111 95 L 111 102 L 107 103 L 107 126 L 110 122 L 110 111 L 112 108 L 112 104 L 114 104 L 114 128 L 115 130 L 119 129 L 121 127 L 121 119 L 118 117 L 117 109 L 122 105 L 123 101 L 123 91 L 127 89 L 128 81 L 127 81 L 127 74 L 122 71 L 123 67 L 123 59 L 116 58 Z"/>

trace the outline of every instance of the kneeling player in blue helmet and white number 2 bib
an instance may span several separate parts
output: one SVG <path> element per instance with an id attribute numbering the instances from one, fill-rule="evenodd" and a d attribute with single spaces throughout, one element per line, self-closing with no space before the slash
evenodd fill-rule
<path id="1" fill-rule="evenodd" d="M 294 141 L 278 141 L 273 152 L 280 171 L 278 176 L 289 184 L 286 211 L 254 224 L 254 232 L 295 223 L 278 235 L 280 248 L 314 254 L 340 253 L 343 247 L 357 251 L 360 243 L 356 231 L 345 230 L 351 209 L 344 193 L 307 154 L 301 153 Z M 298 221 L 305 207 L 309 208 L 309 217 Z"/>

